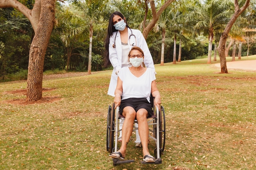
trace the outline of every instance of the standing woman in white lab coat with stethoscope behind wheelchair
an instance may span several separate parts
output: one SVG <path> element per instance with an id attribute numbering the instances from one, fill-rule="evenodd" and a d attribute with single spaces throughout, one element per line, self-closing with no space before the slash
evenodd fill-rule
<path id="1" fill-rule="evenodd" d="M 137 29 L 131 29 L 126 18 L 121 12 L 115 11 L 110 15 L 108 23 L 108 33 L 105 39 L 105 67 L 112 64 L 113 71 L 108 87 L 108 95 L 115 97 L 115 88 L 117 87 L 117 73 L 123 67 L 130 67 L 131 64 L 128 62 L 128 54 L 133 46 L 138 46 L 144 51 L 145 58 L 144 64 L 147 68 L 153 69 L 155 72 L 154 62 L 151 53 L 148 49 L 147 42 L 142 35 L 141 31 Z M 156 74 L 156 72 L 155 72 Z M 123 126 L 123 121 L 120 119 L 119 128 Z M 138 124 L 135 124 L 138 127 Z M 120 132 L 121 137 L 122 134 Z M 136 130 L 136 145 L 141 147 L 141 140 L 139 132 Z"/>

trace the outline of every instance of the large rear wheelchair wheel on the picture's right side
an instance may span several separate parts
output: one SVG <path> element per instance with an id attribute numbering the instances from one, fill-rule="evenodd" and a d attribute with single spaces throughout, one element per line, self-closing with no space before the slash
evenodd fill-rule
<path id="1" fill-rule="evenodd" d="M 162 152 L 164 152 L 164 146 L 165 146 L 165 114 L 164 114 L 164 107 L 161 106 L 161 110 L 159 110 L 161 113 L 159 115 L 159 147 Z"/>

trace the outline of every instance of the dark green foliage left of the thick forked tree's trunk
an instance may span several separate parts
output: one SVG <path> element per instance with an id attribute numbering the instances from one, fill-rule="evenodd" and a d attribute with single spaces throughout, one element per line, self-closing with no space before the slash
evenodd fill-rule
<path id="1" fill-rule="evenodd" d="M 24 16 L 13 16 L 13 9 L 0 11 L 0 77 L 27 69 L 29 56 L 30 24 Z M 19 76 L 17 76 L 19 77 Z M 21 76 L 21 78 L 23 78 Z M 11 78 L 12 79 L 12 78 Z"/>

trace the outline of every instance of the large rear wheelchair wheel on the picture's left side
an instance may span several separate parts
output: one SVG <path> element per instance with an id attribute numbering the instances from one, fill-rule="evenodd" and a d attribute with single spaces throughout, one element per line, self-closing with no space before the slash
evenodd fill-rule
<path id="1" fill-rule="evenodd" d="M 115 105 L 112 104 L 112 107 L 108 106 L 108 120 L 107 120 L 107 139 L 106 146 L 107 151 L 112 152 L 114 147 L 114 121 L 115 121 Z"/>

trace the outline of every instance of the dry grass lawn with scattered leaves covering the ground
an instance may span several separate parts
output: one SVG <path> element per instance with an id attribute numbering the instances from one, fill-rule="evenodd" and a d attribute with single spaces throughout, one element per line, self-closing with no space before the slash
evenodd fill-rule
<path id="1" fill-rule="evenodd" d="M 30 104 L 26 82 L 0 83 L 0 169 L 255 170 L 256 72 L 220 74 L 206 62 L 155 65 L 166 115 L 159 165 L 140 163 L 135 134 L 126 154 L 135 163 L 112 165 L 106 150 L 111 71 L 44 80 L 43 100 Z M 150 143 L 152 155 L 154 148 Z"/>

